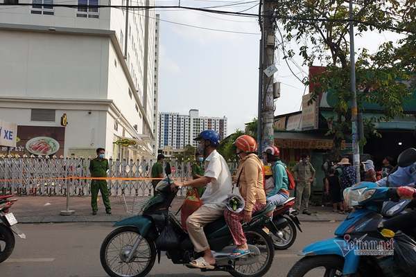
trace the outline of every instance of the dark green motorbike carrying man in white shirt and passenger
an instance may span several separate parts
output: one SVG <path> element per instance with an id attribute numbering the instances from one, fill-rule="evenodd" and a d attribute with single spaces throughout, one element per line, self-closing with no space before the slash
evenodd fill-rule
<path id="1" fill-rule="evenodd" d="M 169 176 L 170 173 L 170 167 L 166 166 L 166 175 Z M 171 190 L 170 184 L 169 178 L 157 184 L 156 195 L 146 202 L 141 215 L 114 224 L 117 228 L 107 235 L 100 250 L 101 265 L 108 275 L 146 276 L 155 265 L 156 258 L 160 262 L 162 251 L 166 251 L 166 257 L 173 264 L 196 269 L 189 262 L 198 258 L 199 254 L 193 250 L 189 235 L 180 222 L 169 213 L 169 207 L 177 194 L 177 191 Z M 241 258 L 229 256 L 235 246 L 223 217 L 205 226 L 204 231 L 216 258 L 216 265 L 214 269 L 200 270 L 226 271 L 238 277 L 266 274 L 272 265 L 275 249 L 263 227 L 271 221 L 270 215 L 274 210 L 275 206 L 268 204 L 262 211 L 254 213 L 251 222 L 243 224 L 250 254 Z M 166 232 L 168 230 L 170 232 Z M 168 244 L 163 242 L 166 238 L 171 238 Z"/>

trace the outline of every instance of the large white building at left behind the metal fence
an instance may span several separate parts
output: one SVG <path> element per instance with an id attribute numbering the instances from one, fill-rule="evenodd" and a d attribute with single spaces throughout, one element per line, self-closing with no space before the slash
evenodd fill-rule
<path id="1" fill-rule="evenodd" d="M 114 159 L 153 156 L 155 11 L 46 6 L 110 0 L 3 1 L 32 4 L 0 6 L 0 118 L 18 125 L 12 152 L 33 154 L 25 143 L 46 136 L 58 141 L 48 153 L 57 156 L 91 156 L 98 147 Z M 136 145 L 116 145 L 120 139 Z"/>

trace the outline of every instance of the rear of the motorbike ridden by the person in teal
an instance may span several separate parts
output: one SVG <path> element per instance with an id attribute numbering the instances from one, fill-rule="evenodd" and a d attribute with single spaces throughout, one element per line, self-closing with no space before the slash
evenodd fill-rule
<path id="1" fill-rule="evenodd" d="M 276 250 L 291 247 L 296 240 L 297 230 L 302 232 L 293 206 L 295 206 L 295 197 L 291 197 L 277 206 L 273 212 L 272 222 L 268 223 L 267 227 L 270 229 L 270 236 Z"/>

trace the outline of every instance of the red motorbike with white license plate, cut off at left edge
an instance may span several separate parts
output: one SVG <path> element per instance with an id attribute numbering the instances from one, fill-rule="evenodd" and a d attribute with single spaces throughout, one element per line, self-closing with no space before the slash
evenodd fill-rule
<path id="1" fill-rule="evenodd" d="M 26 235 L 17 228 L 15 215 L 9 213 L 10 207 L 17 199 L 9 199 L 15 195 L 0 196 L 0 262 L 4 262 L 15 249 L 15 235 L 26 238 Z"/>

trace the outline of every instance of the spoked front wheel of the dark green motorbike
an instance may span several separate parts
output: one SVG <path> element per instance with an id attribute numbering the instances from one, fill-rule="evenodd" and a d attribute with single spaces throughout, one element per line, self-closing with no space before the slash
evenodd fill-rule
<path id="1" fill-rule="evenodd" d="M 139 246 L 129 261 L 128 256 L 138 238 Z M 135 227 L 120 227 L 104 239 L 101 244 L 100 260 L 105 272 L 111 277 L 146 276 L 155 265 L 155 242 L 143 238 Z"/>

